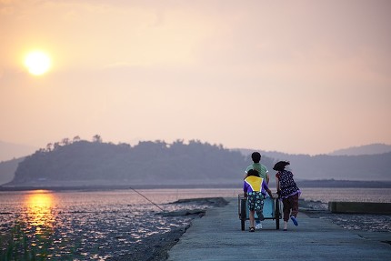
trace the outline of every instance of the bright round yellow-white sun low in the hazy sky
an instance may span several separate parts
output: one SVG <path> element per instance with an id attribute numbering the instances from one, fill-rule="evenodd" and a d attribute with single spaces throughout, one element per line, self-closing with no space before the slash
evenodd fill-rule
<path id="1" fill-rule="evenodd" d="M 51 64 L 49 55 L 41 51 L 30 52 L 25 56 L 25 66 L 32 75 L 44 75 Z"/>

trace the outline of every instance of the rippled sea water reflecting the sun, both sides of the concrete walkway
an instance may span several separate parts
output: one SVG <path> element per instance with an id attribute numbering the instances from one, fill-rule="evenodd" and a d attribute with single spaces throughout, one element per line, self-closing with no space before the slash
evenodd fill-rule
<path id="1" fill-rule="evenodd" d="M 175 201 L 236 197 L 239 193 L 240 189 L 232 188 L 3 191 L 0 192 L 0 239 L 3 239 L 0 250 L 5 253 L 6 236 L 22 233 L 38 249 L 50 243 L 48 260 L 72 255 L 75 251 L 82 257 L 73 260 L 106 260 L 113 253 L 122 255 L 129 251 L 129 246 L 142 244 L 148 236 L 188 226 L 192 218 L 162 216 L 159 213 L 207 207 L 193 206 L 191 203 L 173 204 Z M 325 207 L 329 201 L 391 202 L 391 189 L 302 188 L 301 197 L 306 201 L 320 202 Z M 346 218 L 346 223 L 349 223 L 346 216 L 342 217 L 342 222 Z M 379 216 L 368 218 L 371 220 Z M 390 216 L 380 216 L 380 220 L 378 225 L 372 227 L 373 231 L 389 232 Z"/>

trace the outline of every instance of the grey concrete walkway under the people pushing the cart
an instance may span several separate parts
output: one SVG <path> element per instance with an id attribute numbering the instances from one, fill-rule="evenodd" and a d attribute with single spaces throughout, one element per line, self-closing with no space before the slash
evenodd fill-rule
<path id="1" fill-rule="evenodd" d="M 323 218 L 300 212 L 298 226 L 276 230 L 274 220 L 265 220 L 255 233 L 242 231 L 237 199 L 206 211 L 195 219 L 179 242 L 168 252 L 168 261 L 186 260 L 391 260 L 391 232 L 346 230 Z M 388 242 L 388 243 L 387 243 Z"/>

